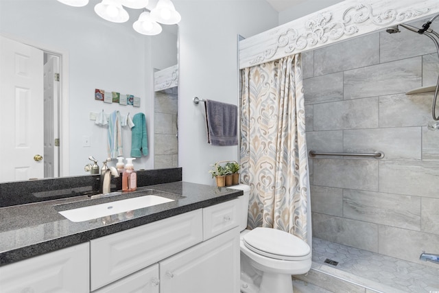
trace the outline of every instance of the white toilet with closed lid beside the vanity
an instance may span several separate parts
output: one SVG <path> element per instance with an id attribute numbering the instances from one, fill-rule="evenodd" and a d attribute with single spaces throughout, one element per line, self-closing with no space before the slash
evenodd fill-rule
<path id="1" fill-rule="evenodd" d="M 239 228 L 242 293 L 292 293 L 292 274 L 311 268 L 311 248 L 302 239 L 274 228 L 247 230 L 250 186 L 228 187 L 244 191 Z"/>

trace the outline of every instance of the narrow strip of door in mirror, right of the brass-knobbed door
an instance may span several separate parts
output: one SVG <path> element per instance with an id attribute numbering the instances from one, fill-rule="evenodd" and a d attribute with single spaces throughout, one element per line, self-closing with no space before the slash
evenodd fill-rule
<path id="1" fill-rule="evenodd" d="M 44 176 L 58 177 L 58 57 L 49 56 L 44 65 Z"/>

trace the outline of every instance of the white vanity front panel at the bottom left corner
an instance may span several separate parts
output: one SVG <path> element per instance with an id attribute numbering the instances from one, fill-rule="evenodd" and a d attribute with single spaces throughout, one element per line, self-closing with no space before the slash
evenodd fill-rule
<path id="1" fill-rule="evenodd" d="M 0 292 L 90 292 L 88 243 L 0 268 Z"/>

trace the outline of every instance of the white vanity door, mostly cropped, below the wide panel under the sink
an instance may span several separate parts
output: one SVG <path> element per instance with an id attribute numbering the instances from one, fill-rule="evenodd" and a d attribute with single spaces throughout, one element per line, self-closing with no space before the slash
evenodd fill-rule
<path id="1" fill-rule="evenodd" d="M 158 293 L 158 263 L 93 293 Z"/>

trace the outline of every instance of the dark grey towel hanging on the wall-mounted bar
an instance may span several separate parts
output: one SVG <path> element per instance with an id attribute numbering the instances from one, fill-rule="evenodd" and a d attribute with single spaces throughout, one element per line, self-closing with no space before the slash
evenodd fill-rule
<path id="1" fill-rule="evenodd" d="M 206 99 L 207 143 L 237 145 L 238 107 Z"/>

